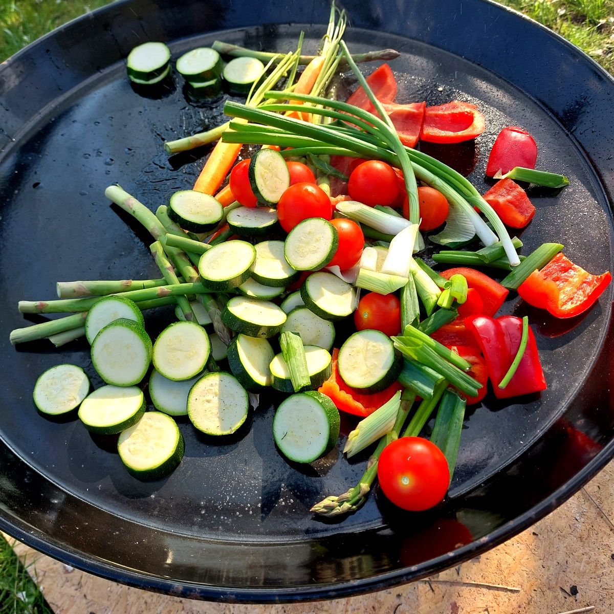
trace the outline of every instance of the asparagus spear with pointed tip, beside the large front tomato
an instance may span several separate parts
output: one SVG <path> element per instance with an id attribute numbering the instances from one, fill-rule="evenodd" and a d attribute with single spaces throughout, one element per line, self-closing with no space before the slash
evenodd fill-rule
<path id="1" fill-rule="evenodd" d="M 341 514 L 356 511 L 363 505 L 371 491 L 371 486 L 373 486 L 378 476 L 379 456 L 391 441 L 398 438 L 398 433 L 403 428 L 403 424 L 405 424 L 405 420 L 410 413 L 411 406 L 415 399 L 416 395 L 411 393 L 408 394 L 406 391 L 403 392 L 394 427 L 392 427 L 391 432 L 384 435 L 384 437 L 379 440 L 378 446 L 367 462 L 367 470 L 363 473 L 359 483 L 354 486 L 354 488 L 349 489 L 349 491 L 341 495 L 326 497 L 326 499 L 316 503 L 316 505 L 311 508 L 311 511 L 321 516 L 339 516 Z"/>

